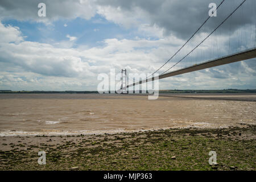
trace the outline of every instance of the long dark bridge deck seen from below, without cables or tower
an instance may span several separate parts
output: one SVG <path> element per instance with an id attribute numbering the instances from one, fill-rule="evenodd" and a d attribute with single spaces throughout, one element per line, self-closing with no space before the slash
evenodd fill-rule
<path id="1" fill-rule="evenodd" d="M 201 69 L 212 68 L 212 67 L 217 67 L 217 66 L 223 65 L 223 64 L 229 64 L 229 63 L 234 63 L 234 62 L 237 62 L 237 61 L 252 59 L 254 57 L 256 57 L 256 48 L 247 49 L 245 51 L 234 53 L 232 55 L 219 57 L 217 59 L 205 61 L 205 62 L 200 63 L 200 64 L 194 64 L 194 65 L 192 65 L 190 67 L 187 67 L 187 68 L 178 69 L 176 71 L 165 73 L 163 75 L 160 75 L 158 79 L 160 80 L 162 78 L 181 75 L 181 74 L 184 74 L 184 73 L 194 72 L 194 71 L 198 71 L 198 70 L 201 70 Z M 152 78 L 152 80 L 156 80 L 156 79 L 157 79 L 156 77 Z M 152 81 L 152 80 L 147 79 L 147 80 L 139 81 L 139 82 L 136 82 L 135 84 L 128 85 L 127 88 L 129 88 L 133 85 L 143 84 L 144 82 L 148 82 L 148 81 Z"/>

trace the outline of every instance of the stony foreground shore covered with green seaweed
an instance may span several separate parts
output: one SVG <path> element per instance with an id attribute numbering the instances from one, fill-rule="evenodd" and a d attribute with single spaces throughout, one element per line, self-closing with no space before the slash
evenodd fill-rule
<path id="1" fill-rule="evenodd" d="M 255 170 L 256 126 L 0 137 L 0 170 Z M 38 152 L 46 152 L 46 165 Z M 216 151 L 217 164 L 208 163 Z"/>

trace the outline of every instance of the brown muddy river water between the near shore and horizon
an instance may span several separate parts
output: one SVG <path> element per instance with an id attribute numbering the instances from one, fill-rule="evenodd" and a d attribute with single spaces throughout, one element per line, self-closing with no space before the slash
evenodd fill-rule
<path id="1" fill-rule="evenodd" d="M 0 94 L 0 136 L 256 124 L 256 94 Z"/>

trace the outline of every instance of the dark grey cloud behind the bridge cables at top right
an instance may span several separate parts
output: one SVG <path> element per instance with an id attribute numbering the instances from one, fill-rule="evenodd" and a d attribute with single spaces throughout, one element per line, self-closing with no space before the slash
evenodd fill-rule
<path id="1" fill-rule="evenodd" d="M 164 34 L 174 34 L 179 38 L 188 38 L 196 29 L 208 18 L 210 10 L 209 3 L 220 4 L 221 1 L 212 0 L 99 0 L 100 8 L 98 13 L 106 19 L 124 26 L 139 26 L 149 23 L 150 26 L 164 29 Z M 204 31 L 213 30 L 222 20 L 224 20 L 242 1 L 225 1 L 217 10 L 217 17 L 210 18 L 205 24 Z M 254 6 L 254 8 L 253 8 Z M 238 28 L 255 22 L 252 14 L 255 15 L 255 5 L 253 1 L 245 2 L 233 18 L 222 27 L 224 32 L 236 31 Z"/>

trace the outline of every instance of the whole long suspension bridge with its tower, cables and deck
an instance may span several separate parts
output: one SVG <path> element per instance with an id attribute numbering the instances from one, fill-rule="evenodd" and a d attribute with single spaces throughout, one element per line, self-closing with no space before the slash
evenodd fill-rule
<path id="1" fill-rule="evenodd" d="M 222 0 L 215 11 L 218 11 L 222 8 L 222 11 L 224 12 L 226 11 L 227 7 L 229 7 L 230 11 L 223 19 L 218 19 L 218 21 L 214 20 L 214 22 L 217 22 L 217 24 L 212 31 L 208 32 L 207 35 L 204 34 L 206 32 L 206 27 L 204 26 L 206 26 L 207 23 L 212 23 L 210 22 L 210 19 L 216 18 L 208 16 L 204 20 L 203 24 L 201 24 L 201 26 L 197 28 L 195 32 L 193 32 L 192 36 L 189 37 L 189 39 L 183 44 L 183 46 L 181 46 L 174 53 L 174 55 L 172 55 L 171 58 L 168 59 L 161 67 L 159 67 L 154 73 L 152 73 L 151 76 L 146 77 L 143 80 L 141 79 L 137 82 L 133 80 L 133 83 L 128 85 L 126 78 L 126 69 L 122 69 L 122 81 L 120 88 L 121 92 L 127 93 L 127 90 L 132 86 L 144 84 L 148 81 L 160 80 L 163 78 L 177 76 L 184 73 L 199 71 L 201 69 L 217 67 L 224 64 L 230 64 L 237 61 L 255 58 L 256 2 L 254 0 L 242 0 L 237 4 L 233 3 L 233 1 L 229 1 L 229 4 L 226 3 L 226 5 L 225 3 L 225 0 Z M 214 13 L 214 11 L 212 13 Z M 232 32 L 233 23 L 236 22 L 237 18 L 240 18 L 241 21 L 248 21 L 248 19 L 250 21 L 249 23 L 246 23 L 243 27 L 238 28 L 236 32 Z M 229 29 L 228 33 L 226 31 L 227 29 Z M 204 38 L 201 39 L 199 42 L 196 42 L 196 40 L 201 38 L 201 35 L 205 35 Z M 190 42 L 193 42 L 192 45 L 195 46 L 189 46 Z M 207 49 L 205 49 L 205 47 Z M 234 48 L 232 49 L 232 47 Z M 182 51 L 187 51 L 187 53 L 182 56 Z M 222 52 L 224 53 L 224 56 L 220 56 L 220 53 Z M 166 69 L 166 71 L 164 71 L 160 75 L 158 74 L 157 76 L 155 76 L 155 74 L 159 72 L 160 69 L 164 68 L 168 63 L 174 60 L 174 57 L 177 57 L 179 53 L 181 55 L 178 56 L 178 59 L 174 65 Z M 204 57 L 203 61 L 201 57 L 199 58 L 200 54 L 201 57 Z M 181 63 L 183 64 L 181 65 Z M 177 64 L 180 65 L 180 68 L 174 71 L 170 71 L 172 68 L 177 67 Z"/>

